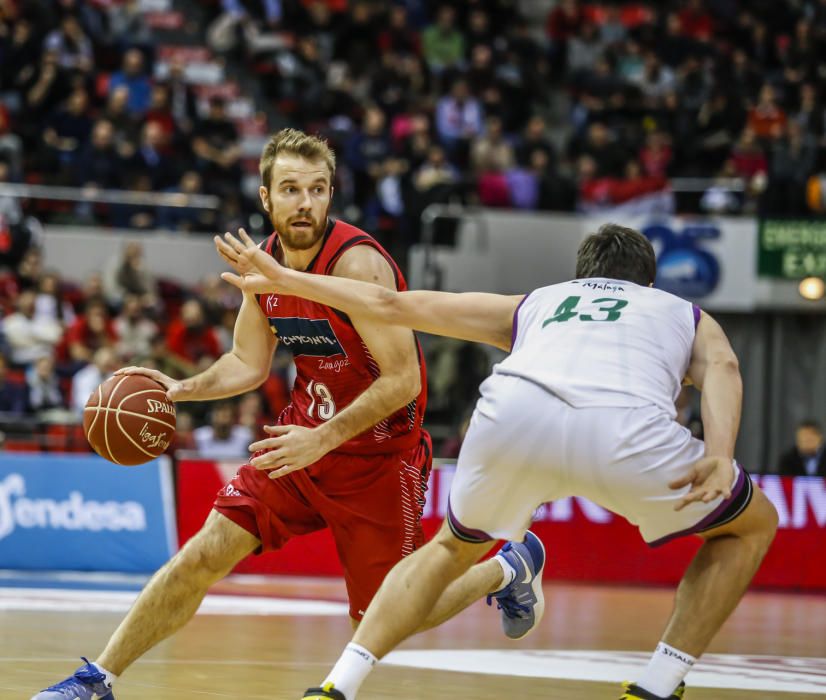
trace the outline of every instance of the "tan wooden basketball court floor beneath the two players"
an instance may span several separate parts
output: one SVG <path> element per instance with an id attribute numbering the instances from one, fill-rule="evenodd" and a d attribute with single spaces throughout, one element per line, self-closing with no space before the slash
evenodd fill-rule
<path id="1" fill-rule="evenodd" d="M 254 584 L 231 580 L 215 592 L 343 600 L 340 582 L 306 579 Z M 647 655 L 659 639 L 672 602 L 671 591 L 656 588 L 552 583 L 546 585 L 545 593 L 545 619 L 522 642 L 506 640 L 498 613 L 478 603 L 441 628 L 409 640 L 402 650 L 432 650 L 429 657 L 436 659 L 448 658 L 456 649 L 471 650 L 471 657 L 466 658 L 492 650 L 528 651 L 531 653 L 522 656 L 537 656 L 540 664 L 539 650 L 590 650 L 603 659 L 610 659 L 613 655 L 606 652 L 611 651 Z M 94 658 L 121 617 L 122 613 L 113 612 L 21 611 L 0 606 L 0 700 L 28 700 L 35 691 L 71 672 L 81 654 Z M 199 614 L 125 673 L 116 686 L 116 697 L 297 700 L 308 685 L 324 677 L 350 634 L 348 620 L 341 614 Z M 826 697 L 826 596 L 749 593 L 709 652 L 744 658 L 820 657 L 819 661 L 811 660 L 803 675 L 822 683 L 823 690 L 810 688 L 804 693 L 690 686 L 687 700 Z M 615 682 L 589 680 L 588 670 L 578 679 L 516 677 L 505 675 L 518 666 L 508 663 L 497 675 L 382 664 L 359 697 L 610 700 L 619 696 Z"/>

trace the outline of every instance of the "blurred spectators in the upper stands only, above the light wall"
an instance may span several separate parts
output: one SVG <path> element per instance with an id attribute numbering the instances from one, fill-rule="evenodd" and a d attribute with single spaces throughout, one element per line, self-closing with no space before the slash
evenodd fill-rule
<path id="1" fill-rule="evenodd" d="M 825 206 L 824 0 L 199 5 L 195 40 L 257 81 L 270 128 L 335 146 L 339 210 L 405 241 L 433 201 L 574 210 L 678 176 L 740 178 L 772 214 Z M 216 230 L 253 212 L 232 105 L 199 99 L 160 41 L 136 0 L 0 2 L 0 180 L 225 201 L 68 217 L 116 226 Z M 703 206 L 743 198 L 711 187 Z"/>

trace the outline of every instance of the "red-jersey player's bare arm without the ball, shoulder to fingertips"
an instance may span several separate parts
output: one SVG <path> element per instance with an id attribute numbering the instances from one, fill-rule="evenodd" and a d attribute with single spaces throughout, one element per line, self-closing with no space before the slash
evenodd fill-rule
<path id="1" fill-rule="evenodd" d="M 355 246 L 345 252 L 332 274 L 387 289 L 396 288 L 389 263 L 375 248 L 366 245 Z M 275 479 L 312 464 L 419 395 L 421 375 L 412 331 L 365 317 L 351 317 L 350 320 L 375 360 L 379 376 L 350 405 L 316 428 L 286 425 L 269 428 L 271 435 L 279 437 L 255 443 L 250 449 L 277 448 L 251 462 L 259 468 L 279 467 L 270 473 L 270 478 Z"/>

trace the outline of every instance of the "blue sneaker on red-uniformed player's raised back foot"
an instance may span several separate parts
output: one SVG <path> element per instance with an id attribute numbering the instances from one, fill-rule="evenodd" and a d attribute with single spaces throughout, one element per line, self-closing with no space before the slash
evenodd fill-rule
<path id="1" fill-rule="evenodd" d="M 510 639 L 522 639 L 542 619 L 545 596 L 542 593 L 542 569 L 545 547 L 530 530 L 522 542 L 507 542 L 497 552 L 510 564 L 516 576 L 501 591 L 488 596 L 488 605 L 496 598 L 502 611 L 502 629 Z"/>

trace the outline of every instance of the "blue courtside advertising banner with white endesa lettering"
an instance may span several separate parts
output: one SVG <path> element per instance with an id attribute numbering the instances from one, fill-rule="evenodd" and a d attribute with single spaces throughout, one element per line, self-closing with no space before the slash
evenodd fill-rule
<path id="1" fill-rule="evenodd" d="M 147 573 L 176 549 L 168 458 L 0 454 L 0 568 Z"/>

